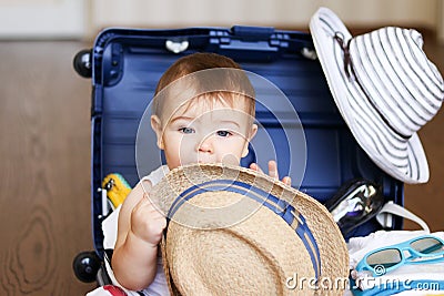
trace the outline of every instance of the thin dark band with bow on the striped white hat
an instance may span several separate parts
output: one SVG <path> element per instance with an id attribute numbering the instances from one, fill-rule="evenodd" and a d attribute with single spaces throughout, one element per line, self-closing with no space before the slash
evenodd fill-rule
<path id="1" fill-rule="evenodd" d="M 354 71 L 354 67 L 353 67 L 353 60 L 350 55 L 350 43 L 353 38 L 351 38 L 345 43 L 344 38 L 341 35 L 341 33 L 336 32 L 334 34 L 333 39 L 337 42 L 337 44 L 340 45 L 340 48 L 342 49 L 342 51 L 344 53 L 344 72 L 345 72 L 346 76 L 349 78 L 349 80 L 353 79 L 353 81 L 356 82 L 357 86 L 364 94 L 365 99 L 373 106 L 373 109 L 376 111 L 377 115 L 380 115 L 380 118 L 389 126 L 389 129 L 391 129 L 396 135 L 401 136 L 402 139 L 408 140 L 411 137 L 411 135 L 404 135 L 404 134 L 400 133 L 395 127 L 393 127 L 393 125 L 387 121 L 387 119 L 381 113 L 381 111 L 374 104 L 373 100 L 369 96 L 367 92 L 365 91 L 365 88 L 361 84 L 360 80 L 357 79 L 357 75 L 356 75 L 356 73 Z M 353 74 L 353 78 L 350 74 L 350 72 Z"/>

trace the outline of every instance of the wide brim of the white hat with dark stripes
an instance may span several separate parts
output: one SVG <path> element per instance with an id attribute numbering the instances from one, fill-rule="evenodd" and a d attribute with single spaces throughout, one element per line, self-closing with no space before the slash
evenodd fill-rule
<path id="1" fill-rule="evenodd" d="M 331 10 L 320 8 L 311 19 L 310 31 L 333 99 L 360 146 L 377 166 L 393 177 L 411 184 L 427 182 L 428 165 L 418 135 L 414 133 L 405 140 L 402 151 L 387 147 L 381 140 L 382 136 L 394 142 L 398 141 L 398 136 L 386 126 L 371 103 L 364 99 L 362 90 L 344 73 L 343 51 L 334 40 L 336 33 L 343 37 L 345 43 L 352 38 L 343 22 Z M 400 160 L 407 160 L 407 163 L 394 163 L 386 157 L 387 153 L 396 153 Z"/>

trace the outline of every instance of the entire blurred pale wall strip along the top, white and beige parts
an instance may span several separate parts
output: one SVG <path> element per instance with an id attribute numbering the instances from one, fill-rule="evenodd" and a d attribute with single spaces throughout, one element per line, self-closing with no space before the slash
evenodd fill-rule
<path id="1" fill-rule="evenodd" d="M 307 29 L 321 6 L 346 25 L 430 28 L 444 40 L 442 0 L 0 0 L 0 39 L 93 38 L 119 25 Z"/>

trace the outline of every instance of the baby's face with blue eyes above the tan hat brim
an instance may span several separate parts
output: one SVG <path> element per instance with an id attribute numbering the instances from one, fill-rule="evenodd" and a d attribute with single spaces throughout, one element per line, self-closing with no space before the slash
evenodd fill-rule
<path id="1" fill-rule="evenodd" d="M 236 100 L 233 106 L 215 101 L 210 106 L 198 101 L 176 110 L 167 108 L 171 116 L 157 119 L 162 126 L 157 134 L 169 169 L 191 163 L 239 165 L 258 129 L 245 104 L 246 100 Z"/>

